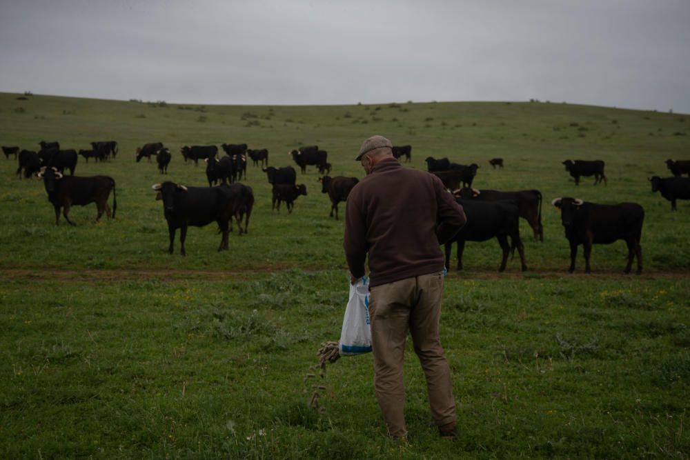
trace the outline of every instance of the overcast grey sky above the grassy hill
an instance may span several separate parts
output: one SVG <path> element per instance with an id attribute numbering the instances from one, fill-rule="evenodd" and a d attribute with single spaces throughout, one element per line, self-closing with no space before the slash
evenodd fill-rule
<path id="1" fill-rule="evenodd" d="M 689 0 L 2 0 L 0 91 L 690 113 Z"/>

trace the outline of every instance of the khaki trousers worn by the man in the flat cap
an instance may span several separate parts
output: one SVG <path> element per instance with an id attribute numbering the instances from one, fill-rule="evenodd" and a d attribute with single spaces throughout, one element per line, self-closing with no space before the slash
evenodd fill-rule
<path id="1" fill-rule="evenodd" d="M 407 434 L 402 368 L 408 331 L 426 376 L 433 421 L 438 426 L 455 422 L 451 371 L 439 337 L 442 290 L 442 272 L 402 279 L 370 290 L 374 387 L 392 437 Z"/>

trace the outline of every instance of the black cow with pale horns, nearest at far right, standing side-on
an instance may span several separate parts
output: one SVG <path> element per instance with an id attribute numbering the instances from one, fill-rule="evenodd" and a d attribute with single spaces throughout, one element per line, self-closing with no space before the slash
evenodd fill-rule
<path id="1" fill-rule="evenodd" d="M 628 263 L 625 272 L 633 265 L 633 256 L 638 258 L 638 274 L 642 273 L 642 223 L 644 208 L 638 203 L 617 205 L 596 204 L 575 198 L 556 198 L 551 204 L 561 211 L 561 222 L 565 237 L 570 243 L 570 272 L 575 270 L 575 256 L 578 246 L 584 246 L 584 271 L 589 273 L 589 257 L 593 244 L 611 244 L 619 239 L 628 245 Z"/>

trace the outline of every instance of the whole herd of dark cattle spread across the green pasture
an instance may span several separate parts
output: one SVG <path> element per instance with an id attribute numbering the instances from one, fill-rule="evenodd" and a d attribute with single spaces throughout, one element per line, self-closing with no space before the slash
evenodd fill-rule
<path id="1" fill-rule="evenodd" d="M 116 141 L 97 141 L 91 143 L 88 150 L 61 150 L 57 142 L 39 142 L 40 150 L 21 150 L 17 146 L 2 146 L 6 159 L 14 156 L 19 162 L 17 176 L 19 179 L 29 179 L 37 176 L 43 179 L 48 193 L 48 200 L 55 208 L 55 223 L 59 223 L 62 211 L 65 220 L 74 225 L 68 217 L 71 206 L 85 206 L 96 203 L 99 220 L 106 213 L 108 219 L 115 218 L 117 199 L 115 180 L 109 176 L 79 177 L 75 176 L 77 159 L 83 157 L 88 163 L 94 161 L 110 161 L 115 159 L 118 152 Z M 185 163 L 195 163 L 199 160 L 206 164 L 206 179 L 208 187 L 188 187 L 181 184 L 164 181 L 152 186 L 157 192 L 156 199 L 163 201 L 164 217 L 168 223 L 170 246 L 168 252 L 172 254 L 175 233 L 180 230 L 180 252 L 186 254 L 184 242 L 188 226 L 202 227 L 215 221 L 221 233 L 221 243 L 218 250 L 228 249 L 228 232 L 232 231 L 233 218 L 237 222 L 238 233 L 248 232 L 249 219 L 254 206 L 254 194 L 251 187 L 239 183 L 246 179 L 247 159 L 251 159 L 253 166 L 266 173 L 268 183 L 272 186 L 272 209 L 277 212 L 284 202 L 288 214 L 293 210 L 295 200 L 300 195 L 306 195 L 304 183 L 297 184 L 297 172 L 292 166 L 268 166 L 268 150 L 249 149 L 246 143 L 222 144 L 224 152 L 219 155 L 217 146 L 184 146 L 181 154 Z M 404 162 L 411 161 L 411 146 L 393 147 L 393 155 L 397 159 L 404 157 Z M 328 152 L 318 146 L 304 146 L 288 152 L 302 174 L 307 166 L 315 166 L 322 183 L 322 193 L 328 194 L 331 200 L 331 214 L 339 219 L 338 203 L 346 201 L 348 194 L 357 184 L 356 177 L 331 177 L 331 163 L 328 163 Z M 135 160 L 137 163 L 146 157 L 151 161 L 155 157 L 161 174 L 167 174 L 168 165 L 172 158 L 170 150 L 161 142 L 146 143 L 137 148 Z M 427 170 L 435 174 L 444 186 L 453 193 L 458 203 L 462 205 L 467 215 L 467 223 L 452 241 L 445 243 L 446 268 L 450 269 L 452 244 L 457 243 L 457 270 L 462 270 L 462 252 L 465 241 L 486 241 L 496 238 L 502 249 L 502 259 L 499 270 L 506 268 L 509 254 L 517 249 L 520 256 L 522 270 L 527 266 L 524 257 L 524 245 L 520 239 L 518 219 L 525 219 L 533 230 L 533 237 L 537 241 L 544 241 L 542 226 L 542 193 L 539 190 L 487 190 L 472 188 L 473 179 L 480 168 L 476 163 L 461 165 L 451 162 L 448 158 L 425 160 Z M 504 168 L 502 158 L 493 158 L 489 164 L 495 169 Z M 594 185 L 603 182 L 607 185 L 604 174 L 604 161 L 566 160 L 562 164 L 575 181 L 580 184 L 580 177 L 594 177 Z M 652 192 L 660 192 L 662 197 L 671 201 L 671 210 L 676 211 L 676 200 L 690 199 L 690 161 L 666 161 L 671 177 L 649 177 Z M 69 170 L 69 175 L 66 174 Z M 683 177 L 687 174 L 688 177 Z M 108 205 L 112 191 L 112 209 Z M 628 259 L 625 272 L 630 272 L 633 259 L 637 259 L 637 273 L 642 272 L 642 248 L 640 237 L 644 221 L 644 209 L 638 203 L 620 203 L 617 205 L 603 205 L 590 203 L 571 197 L 557 198 L 551 204 L 561 212 L 561 222 L 565 230 L 566 239 L 570 245 L 571 263 L 569 271 L 575 270 L 575 257 L 578 246 L 584 248 L 585 271 L 590 272 L 590 256 L 593 244 L 608 244 L 624 240 L 628 247 Z M 244 225 L 242 223 L 244 219 Z"/>

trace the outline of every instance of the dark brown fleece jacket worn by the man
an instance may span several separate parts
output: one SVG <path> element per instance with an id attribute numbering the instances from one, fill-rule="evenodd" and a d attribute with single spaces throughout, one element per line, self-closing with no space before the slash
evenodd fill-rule
<path id="1" fill-rule="evenodd" d="M 465 222 L 438 177 L 383 159 L 347 199 L 343 248 L 350 272 L 364 275 L 367 254 L 370 286 L 440 272 L 439 246 Z"/>

